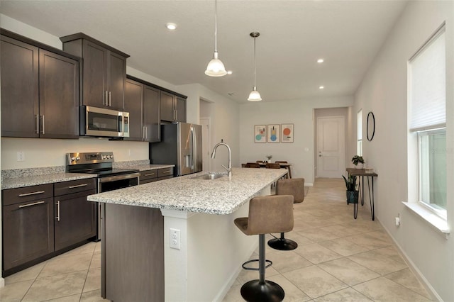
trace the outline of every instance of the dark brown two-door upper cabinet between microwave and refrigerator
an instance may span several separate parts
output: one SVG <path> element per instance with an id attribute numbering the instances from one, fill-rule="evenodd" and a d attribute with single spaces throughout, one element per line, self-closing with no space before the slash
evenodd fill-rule
<path id="1" fill-rule="evenodd" d="M 160 141 L 160 90 L 126 79 L 125 111 L 129 112 L 130 134 L 125 140 Z"/>

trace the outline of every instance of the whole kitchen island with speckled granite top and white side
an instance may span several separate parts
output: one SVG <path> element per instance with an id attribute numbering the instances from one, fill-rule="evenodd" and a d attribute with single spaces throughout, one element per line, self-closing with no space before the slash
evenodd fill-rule
<path id="1" fill-rule="evenodd" d="M 250 198 L 270 194 L 286 173 L 233 168 L 231 179 L 196 179 L 204 174 L 198 173 L 89 196 L 104 203 L 105 297 L 221 300 L 258 245 L 257 236 L 245 236 L 233 220 L 248 216 Z"/>

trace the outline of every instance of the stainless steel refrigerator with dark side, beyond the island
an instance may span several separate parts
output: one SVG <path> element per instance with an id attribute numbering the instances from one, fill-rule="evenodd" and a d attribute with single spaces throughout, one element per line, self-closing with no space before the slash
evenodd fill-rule
<path id="1" fill-rule="evenodd" d="M 201 172 L 201 125 L 161 125 L 161 141 L 150 143 L 150 163 L 175 164 L 175 177 Z"/>

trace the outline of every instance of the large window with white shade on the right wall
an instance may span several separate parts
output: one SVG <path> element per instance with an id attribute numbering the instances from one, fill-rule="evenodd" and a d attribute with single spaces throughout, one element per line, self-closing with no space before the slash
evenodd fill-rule
<path id="1" fill-rule="evenodd" d="M 419 201 L 446 217 L 445 28 L 409 61 L 409 148 L 417 150 Z M 411 143 L 414 142 L 414 143 Z"/>

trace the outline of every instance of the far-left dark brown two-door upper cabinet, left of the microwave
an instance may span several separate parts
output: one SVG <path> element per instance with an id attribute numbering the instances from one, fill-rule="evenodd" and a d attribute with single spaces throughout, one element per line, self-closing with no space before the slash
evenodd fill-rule
<path id="1" fill-rule="evenodd" d="M 79 138 L 79 58 L 0 33 L 1 136 Z"/>

